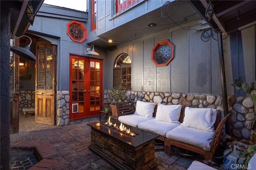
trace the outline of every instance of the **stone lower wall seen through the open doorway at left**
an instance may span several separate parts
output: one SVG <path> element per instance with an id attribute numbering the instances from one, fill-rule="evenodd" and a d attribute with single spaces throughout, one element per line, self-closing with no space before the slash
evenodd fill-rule
<path id="1" fill-rule="evenodd" d="M 20 90 L 19 94 L 19 111 L 23 108 L 35 107 L 35 91 L 34 90 Z"/>

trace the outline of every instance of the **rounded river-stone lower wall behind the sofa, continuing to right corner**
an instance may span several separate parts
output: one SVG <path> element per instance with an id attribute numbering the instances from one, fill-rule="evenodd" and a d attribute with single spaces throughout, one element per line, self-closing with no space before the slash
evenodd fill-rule
<path id="1" fill-rule="evenodd" d="M 104 90 L 104 99 L 108 100 L 107 92 Z M 222 95 L 198 94 L 198 93 L 163 93 L 146 91 L 128 91 L 130 101 L 148 101 L 168 105 L 183 105 L 197 108 L 214 108 L 221 111 L 224 117 Z M 111 101 L 110 101 L 111 102 Z M 255 118 L 254 105 L 252 97 L 228 97 L 230 124 L 232 129 L 232 140 L 248 141 L 250 139 L 250 126 Z"/>

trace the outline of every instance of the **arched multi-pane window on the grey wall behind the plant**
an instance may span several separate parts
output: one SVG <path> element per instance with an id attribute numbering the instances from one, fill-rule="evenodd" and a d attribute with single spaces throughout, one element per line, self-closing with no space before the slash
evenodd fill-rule
<path id="1" fill-rule="evenodd" d="M 126 53 L 116 57 L 113 70 L 114 87 L 122 85 L 126 89 L 132 89 L 132 60 Z"/>

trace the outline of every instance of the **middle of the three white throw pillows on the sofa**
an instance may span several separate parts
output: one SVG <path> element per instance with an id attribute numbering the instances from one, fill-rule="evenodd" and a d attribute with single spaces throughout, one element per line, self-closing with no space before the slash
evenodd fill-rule
<path id="1" fill-rule="evenodd" d="M 170 123 L 180 123 L 180 111 L 182 105 L 163 105 L 158 103 L 156 110 L 156 120 Z"/>

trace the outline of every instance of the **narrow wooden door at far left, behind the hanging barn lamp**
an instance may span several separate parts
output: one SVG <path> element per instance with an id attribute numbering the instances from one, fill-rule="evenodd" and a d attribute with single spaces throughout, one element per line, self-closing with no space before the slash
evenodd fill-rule
<path id="1" fill-rule="evenodd" d="M 11 40 L 11 47 L 13 43 Z M 19 39 L 15 46 L 20 46 Z M 20 56 L 10 51 L 10 134 L 19 132 L 19 61 Z"/>

